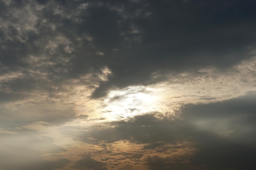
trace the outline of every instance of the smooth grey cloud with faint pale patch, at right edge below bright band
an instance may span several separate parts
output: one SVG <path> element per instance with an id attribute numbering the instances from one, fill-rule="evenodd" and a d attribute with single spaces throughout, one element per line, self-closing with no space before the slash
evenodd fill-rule
<path id="1" fill-rule="evenodd" d="M 255 91 L 249 91 L 245 96 L 222 102 L 187 104 L 182 110 L 181 117 L 201 130 L 211 130 L 220 134 L 232 131 L 234 135 L 245 135 L 252 132 L 256 120 L 253 114 L 256 109 L 255 96 Z"/>

